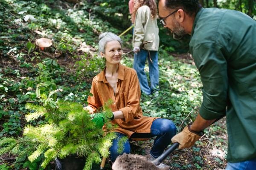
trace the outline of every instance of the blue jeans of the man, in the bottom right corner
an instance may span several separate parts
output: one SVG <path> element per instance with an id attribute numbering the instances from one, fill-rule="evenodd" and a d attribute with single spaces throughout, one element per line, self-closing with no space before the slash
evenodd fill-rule
<path id="1" fill-rule="evenodd" d="M 256 158 L 244 162 L 228 163 L 226 170 L 256 170 Z"/>

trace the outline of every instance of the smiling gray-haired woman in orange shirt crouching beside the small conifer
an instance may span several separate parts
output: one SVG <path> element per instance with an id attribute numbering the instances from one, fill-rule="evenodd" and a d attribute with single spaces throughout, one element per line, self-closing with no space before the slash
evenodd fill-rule
<path id="1" fill-rule="evenodd" d="M 165 148 L 171 143 L 171 139 L 176 134 L 174 123 L 168 119 L 159 119 L 143 116 L 140 107 L 140 82 L 137 73 L 133 68 L 128 68 L 120 64 L 122 58 L 122 40 L 117 35 L 106 32 L 99 36 L 99 54 L 105 60 L 106 67 L 96 77 L 93 78 L 90 93 L 88 96 L 88 106 L 85 108 L 93 113 L 104 105 L 108 99 L 113 100 L 109 107 L 113 115 L 109 117 L 111 124 L 118 124 L 116 129 L 117 138 L 113 139 L 113 145 L 109 148 L 110 160 L 115 161 L 120 154 L 118 141 L 123 136 L 143 141 L 157 136 L 154 146 L 151 149 L 151 159 L 155 159 L 163 153 Z M 102 128 L 103 117 L 93 119 L 96 127 Z M 103 126 L 105 129 L 105 127 Z M 128 140 L 123 143 L 122 153 L 130 153 Z"/>

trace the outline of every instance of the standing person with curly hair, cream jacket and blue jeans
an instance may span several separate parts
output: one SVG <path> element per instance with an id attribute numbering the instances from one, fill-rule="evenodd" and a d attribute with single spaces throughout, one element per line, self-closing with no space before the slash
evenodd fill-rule
<path id="1" fill-rule="evenodd" d="M 141 91 L 147 95 L 156 92 L 155 96 L 157 96 L 159 89 L 157 4 L 154 0 L 136 0 L 132 17 L 135 18 L 133 68 L 137 72 Z M 143 44 L 143 42 L 149 43 Z M 144 71 L 146 59 L 148 59 L 151 87 L 148 85 Z"/>

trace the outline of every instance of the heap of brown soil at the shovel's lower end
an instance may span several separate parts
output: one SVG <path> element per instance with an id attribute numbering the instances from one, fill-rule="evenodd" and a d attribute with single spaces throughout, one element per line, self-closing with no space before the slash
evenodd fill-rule
<path id="1" fill-rule="evenodd" d="M 118 156 L 112 166 L 113 170 L 169 170 L 169 167 L 156 167 L 141 155 L 124 153 Z"/>

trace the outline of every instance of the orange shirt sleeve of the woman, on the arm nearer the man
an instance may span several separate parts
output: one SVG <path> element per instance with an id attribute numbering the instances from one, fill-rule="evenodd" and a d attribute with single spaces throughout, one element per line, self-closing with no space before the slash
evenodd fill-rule
<path id="1" fill-rule="evenodd" d="M 125 116 L 125 122 L 131 122 L 140 107 L 140 83 L 136 71 L 131 74 L 131 82 L 127 97 L 127 106 L 119 109 Z"/>

